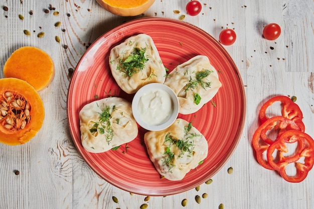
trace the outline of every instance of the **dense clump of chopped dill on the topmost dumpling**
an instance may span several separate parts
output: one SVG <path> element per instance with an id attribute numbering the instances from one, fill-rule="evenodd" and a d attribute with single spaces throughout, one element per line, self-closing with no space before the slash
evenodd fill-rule
<path id="1" fill-rule="evenodd" d="M 148 59 L 145 58 L 145 51 L 146 48 L 134 48 L 124 61 L 120 60 L 120 65 L 117 66 L 117 70 L 129 77 L 138 73 L 145 67 L 144 63 L 148 61 Z"/>

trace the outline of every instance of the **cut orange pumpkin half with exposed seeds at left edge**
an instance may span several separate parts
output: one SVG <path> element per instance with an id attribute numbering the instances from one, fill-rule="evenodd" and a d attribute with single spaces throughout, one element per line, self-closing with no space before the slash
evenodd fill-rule
<path id="1" fill-rule="evenodd" d="M 43 125 L 43 101 L 26 81 L 17 78 L 0 79 L 0 142 L 24 144 Z"/>

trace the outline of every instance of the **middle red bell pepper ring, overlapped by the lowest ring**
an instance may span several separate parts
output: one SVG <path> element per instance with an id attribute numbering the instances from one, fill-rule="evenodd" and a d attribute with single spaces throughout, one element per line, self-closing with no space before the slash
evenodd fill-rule
<path id="1" fill-rule="evenodd" d="M 256 129 L 252 138 L 252 145 L 256 151 L 256 159 L 261 166 L 269 170 L 273 170 L 273 168 L 268 161 L 263 158 L 263 153 L 268 149 L 269 145 L 273 144 L 278 139 L 277 137 L 275 140 L 272 140 L 267 137 L 267 132 L 274 127 L 278 127 L 280 130 L 286 130 L 287 127 L 292 130 L 300 130 L 293 120 L 283 116 L 269 118 Z"/>

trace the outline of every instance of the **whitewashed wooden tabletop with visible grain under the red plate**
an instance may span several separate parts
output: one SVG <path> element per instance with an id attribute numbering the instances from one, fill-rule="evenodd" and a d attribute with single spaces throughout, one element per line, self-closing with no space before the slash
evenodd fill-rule
<path id="1" fill-rule="evenodd" d="M 21 3 L 23 2 L 23 3 Z M 211 0 L 200 1 L 200 15 L 185 12 L 189 2 L 156 0 L 137 17 L 118 17 L 102 9 L 95 0 L 0 0 L 0 66 L 18 48 L 34 46 L 53 59 L 56 74 L 40 92 L 46 118 L 40 132 L 25 145 L 0 144 L 0 208 L 314 208 L 314 170 L 300 183 L 289 183 L 255 160 L 251 138 L 258 126 L 262 102 L 273 95 L 296 96 L 306 127 L 314 137 L 314 35 L 312 0 Z M 48 14 L 50 5 L 59 12 Z M 3 7 L 8 7 L 5 11 Z M 181 11 L 175 14 L 174 10 Z M 33 15 L 30 15 L 33 11 Z M 19 19 L 19 14 L 24 20 Z M 69 14 L 69 15 L 68 15 Z M 240 142 L 211 184 L 201 184 L 171 196 L 150 197 L 121 190 L 100 178 L 77 152 L 67 121 L 66 101 L 71 75 L 93 41 L 108 30 L 135 18 L 168 17 L 194 24 L 218 39 L 222 28 L 233 28 L 237 41 L 225 47 L 234 59 L 247 97 L 245 128 Z M 69 17 L 70 16 L 70 17 Z M 54 24 L 60 21 L 61 27 Z M 262 38 L 265 24 L 275 22 L 282 34 L 275 41 Z M 64 29 L 64 30 L 62 30 Z M 26 36 L 23 31 L 32 35 Z M 45 32 L 38 38 L 39 32 Z M 55 36 L 61 42 L 55 41 Z M 64 46 L 68 46 L 64 49 Z M 0 78 L 3 72 L 0 71 Z M 233 167 L 233 173 L 227 169 Z M 15 171 L 20 174 L 16 175 Z M 201 197 L 201 203 L 195 196 Z M 116 196 L 119 203 L 112 200 Z M 181 201 L 188 199 L 183 207 Z"/>

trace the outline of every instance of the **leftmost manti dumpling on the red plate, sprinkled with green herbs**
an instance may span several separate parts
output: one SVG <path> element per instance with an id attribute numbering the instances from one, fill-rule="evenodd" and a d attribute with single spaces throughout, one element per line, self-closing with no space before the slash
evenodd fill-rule
<path id="1" fill-rule="evenodd" d="M 94 153 L 132 141 L 138 133 L 131 103 L 108 97 L 86 104 L 79 113 L 83 147 Z"/>

